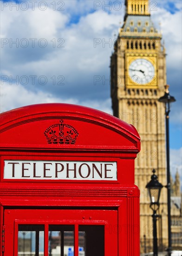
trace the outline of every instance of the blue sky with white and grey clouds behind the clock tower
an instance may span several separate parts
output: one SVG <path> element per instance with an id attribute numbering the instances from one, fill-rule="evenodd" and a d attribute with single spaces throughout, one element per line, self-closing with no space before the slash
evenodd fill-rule
<path id="1" fill-rule="evenodd" d="M 182 1 L 152 0 L 163 33 L 170 94 L 172 171 L 182 162 Z M 110 55 L 123 24 L 124 0 L 0 1 L 0 111 L 66 102 L 112 113 Z M 96 80 L 100 81 L 96 81 Z"/>

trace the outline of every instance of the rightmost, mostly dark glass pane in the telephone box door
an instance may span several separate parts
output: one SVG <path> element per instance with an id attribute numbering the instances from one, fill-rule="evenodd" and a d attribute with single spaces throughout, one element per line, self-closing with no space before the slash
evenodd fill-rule
<path id="1" fill-rule="evenodd" d="M 79 225 L 78 230 L 79 256 L 104 256 L 104 225 Z"/>

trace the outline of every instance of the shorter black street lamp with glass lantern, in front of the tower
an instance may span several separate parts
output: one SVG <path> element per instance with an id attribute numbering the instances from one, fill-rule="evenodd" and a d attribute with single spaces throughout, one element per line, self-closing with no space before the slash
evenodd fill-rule
<path id="1" fill-rule="evenodd" d="M 158 182 L 157 175 L 155 175 L 156 170 L 153 169 L 153 175 L 151 176 L 151 181 L 146 185 L 146 188 L 149 191 L 150 196 L 150 208 L 153 210 L 153 252 L 154 256 L 158 256 L 158 248 L 157 248 L 157 227 L 156 221 L 158 215 L 156 211 L 159 209 L 159 198 L 161 194 L 161 189 L 163 185 Z"/>

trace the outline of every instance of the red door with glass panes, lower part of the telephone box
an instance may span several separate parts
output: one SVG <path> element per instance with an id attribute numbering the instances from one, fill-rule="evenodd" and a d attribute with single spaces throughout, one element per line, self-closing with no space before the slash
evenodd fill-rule
<path id="1" fill-rule="evenodd" d="M 117 210 L 5 209 L 4 256 L 116 256 Z"/>

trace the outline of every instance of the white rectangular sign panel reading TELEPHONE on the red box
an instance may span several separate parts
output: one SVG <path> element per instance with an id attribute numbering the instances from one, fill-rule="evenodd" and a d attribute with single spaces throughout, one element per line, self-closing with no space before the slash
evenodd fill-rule
<path id="1" fill-rule="evenodd" d="M 4 179 L 117 181 L 117 162 L 6 160 Z"/>

